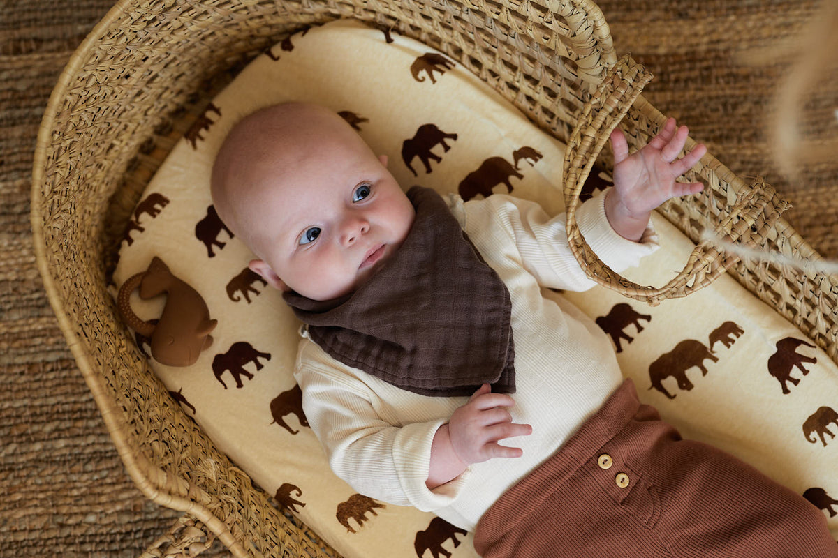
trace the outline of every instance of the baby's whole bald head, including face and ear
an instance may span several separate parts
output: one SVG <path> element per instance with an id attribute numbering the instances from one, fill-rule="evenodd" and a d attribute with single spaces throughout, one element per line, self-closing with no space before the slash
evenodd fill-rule
<path id="1" fill-rule="evenodd" d="M 289 103 L 239 122 L 212 172 L 219 217 L 268 284 L 315 300 L 357 289 L 404 242 L 415 211 L 386 157 L 339 115 Z"/>

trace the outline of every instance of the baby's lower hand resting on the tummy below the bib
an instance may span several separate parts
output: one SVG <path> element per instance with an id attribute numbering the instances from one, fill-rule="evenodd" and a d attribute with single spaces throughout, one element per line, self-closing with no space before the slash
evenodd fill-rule
<path id="1" fill-rule="evenodd" d="M 529 424 L 516 424 L 507 407 L 515 405 L 512 397 L 492 393 L 489 384 L 474 392 L 468 403 L 453 412 L 448 433 L 454 453 L 469 465 L 491 458 L 517 458 L 520 448 L 501 446 L 498 441 L 532 433 Z"/>

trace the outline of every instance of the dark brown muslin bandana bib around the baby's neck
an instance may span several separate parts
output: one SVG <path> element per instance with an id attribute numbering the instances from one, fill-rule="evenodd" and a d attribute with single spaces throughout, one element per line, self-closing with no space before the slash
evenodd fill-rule
<path id="1" fill-rule="evenodd" d="M 360 289 L 317 301 L 284 294 L 312 340 L 348 366 L 427 396 L 515 392 L 510 293 L 430 188 L 407 197 L 416 220 Z"/>

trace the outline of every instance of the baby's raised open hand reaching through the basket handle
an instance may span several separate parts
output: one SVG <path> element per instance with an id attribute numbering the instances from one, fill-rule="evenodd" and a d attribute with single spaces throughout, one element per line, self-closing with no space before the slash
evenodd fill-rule
<path id="1" fill-rule="evenodd" d="M 670 118 L 660 134 L 629 155 L 623 132 L 615 129 L 611 133 L 614 189 L 606 198 L 606 214 L 617 233 L 637 240 L 655 207 L 670 197 L 701 192 L 701 182 L 675 182 L 707 152 L 706 146 L 698 144 L 679 159 L 688 134 L 686 126 L 677 127 L 675 119 Z"/>

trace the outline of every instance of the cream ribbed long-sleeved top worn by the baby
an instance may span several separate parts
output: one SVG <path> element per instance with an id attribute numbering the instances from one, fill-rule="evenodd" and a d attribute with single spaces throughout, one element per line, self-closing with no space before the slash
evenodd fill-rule
<path id="1" fill-rule="evenodd" d="M 649 227 L 639 243 L 614 233 L 604 194 L 582 204 L 577 222 L 603 261 L 621 271 L 658 244 Z M 603 404 L 622 376 L 611 340 L 561 295 L 543 287 L 586 290 L 587 279 L 567 246 L 565 216 L 550 218 L 533 202 L 494 195 L 449 207 L 486 262 L 510 290 L 515 336 L 515 422 L 530 436 L 506 443 L 523 457 L 475 463 L 458 479 L 428 490 L 431 442 L 466 397 L 425 397 L 344 366 L 303 331 L 295 377 L 308 423 L 335 474 L 361 494 L 430 510 L 473 530 L 484 511 L 516 481 L 550 457 Z M 546 298 L 549 297 L 549 298 Z"/>

